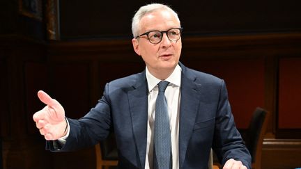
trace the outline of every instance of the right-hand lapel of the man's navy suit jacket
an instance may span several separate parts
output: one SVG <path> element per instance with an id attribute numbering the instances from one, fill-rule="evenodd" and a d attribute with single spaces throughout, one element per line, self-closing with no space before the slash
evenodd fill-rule
<path id="1" fill-rule="evenodd" d="M 199 108 L 201 85 L 194 83 L 196 77 L 187 77 L 187 70 L 182 65 L 180 127 L 179 127 L 179 164 L 183 166 L 187 145 L 194 129 L 196 113 Z"/>

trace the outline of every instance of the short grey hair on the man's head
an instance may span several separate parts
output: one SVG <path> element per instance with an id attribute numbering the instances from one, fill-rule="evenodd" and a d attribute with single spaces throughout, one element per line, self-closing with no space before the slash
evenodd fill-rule
<path id="1" fill-rule="evenodd" d="M 134 38 L 136 38 L 139 35 L 140 31 L 140 20 L 141 18 L 148 14 L 152 13 L 155 10 L 167 10 L 170 11 L 173 15 L 175 15 L 176 19 L 178 19 L 178 22 L 180 23 L 180 19 L 178 18 L 178 14 L 172 10 L 169 6 L 163 5 L 161 3 L 151 3 L 146 6 L 141 6 L 137 13 L 132 18 L 132 35 Z"/>

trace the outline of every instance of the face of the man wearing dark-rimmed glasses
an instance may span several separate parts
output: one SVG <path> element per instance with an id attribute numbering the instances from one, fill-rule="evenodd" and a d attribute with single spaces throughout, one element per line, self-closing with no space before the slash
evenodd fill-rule
<path id="1" fill-rule="evenodd" d="M 155 10 L 141 18 L 139 35 L 148 31 L 167 31 L 179 27 L 180 23 L 169 11 Z M 148 70 L 155 77 L 164 72 L 171 73 L 180 59 L 181 39 L 171 41 L 166 33 L 163 33 L 161 42 L 157 44 L 149 42 L 147 35 L 132 39 L 132 44 L 134 51 L 143 58 Z"/>

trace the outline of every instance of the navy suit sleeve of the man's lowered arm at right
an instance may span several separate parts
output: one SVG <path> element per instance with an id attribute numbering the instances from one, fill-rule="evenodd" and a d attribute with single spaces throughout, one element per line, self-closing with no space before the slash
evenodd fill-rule
<path id="1" fill-rule="evenodd" d="M 213 149 L 222 166 L 227 160 L 235 159 L 251 168 L 251 155 L 236 128 L 224 81 L 219 93 Z"/>

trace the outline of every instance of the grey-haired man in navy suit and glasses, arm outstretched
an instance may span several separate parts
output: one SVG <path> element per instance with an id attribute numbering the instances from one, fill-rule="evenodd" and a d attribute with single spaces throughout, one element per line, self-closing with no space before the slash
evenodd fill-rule
<path id="1" fill-rule="evenodd" d="M 65 118 L 61 104 L 39 91 L 47 106 L 33 120 L 48 140 L 47 149 L 94 145 L 114 129 L 119 168 L 208 168 L 211 147 L 224 168 L 250 168 L 251 156 L 236 129 L 224 81 L 179 63 L 181 31 L 178 15 L 168 6 L 141 7 L 132 20 L 132 45 L 146 70 L 107 83 L 84 118 Z M 163 92 L 160 81 L 168 81 Z M 167 106 L 156 103 L 159 95 Z M 164 110 L 165 116 L 157 116 Z M 158 127 L 162 119 L 167 130 Z"/>

